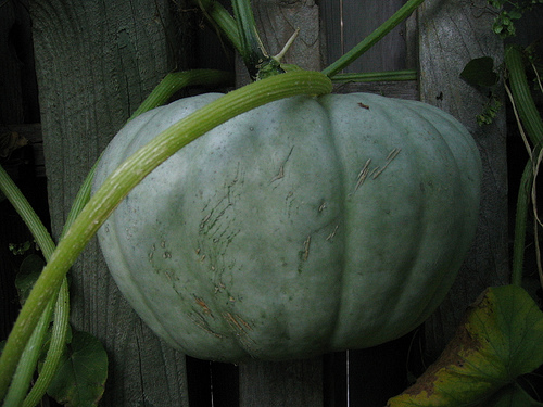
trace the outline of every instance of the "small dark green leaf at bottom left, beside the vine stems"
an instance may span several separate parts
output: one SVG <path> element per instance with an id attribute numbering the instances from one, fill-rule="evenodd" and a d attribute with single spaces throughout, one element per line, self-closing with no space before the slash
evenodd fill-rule
<path id="1" fill-rule="evenodd" d="M 48 394 L 70 407 L 97 406 L 108 378 L 108 355 L 94 336 L 73 330 Z"/>

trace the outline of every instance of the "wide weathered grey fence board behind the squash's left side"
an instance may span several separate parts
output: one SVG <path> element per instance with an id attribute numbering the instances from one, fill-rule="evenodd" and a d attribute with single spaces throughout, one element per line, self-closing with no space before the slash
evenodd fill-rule
<path id="1" fill-rule="evenodd" d="M 77 190 L 110 139 L 178 62 L 165 0 L 31 2 L 50 208 L 58 237 Z M 184 39 L 176 39 L 182 49 Z M 161 342 L 121 296 L 97 243 L 72 269 L 72 325 L 102 341 L 102 406 L 185 406 L 185 356 Z"/>

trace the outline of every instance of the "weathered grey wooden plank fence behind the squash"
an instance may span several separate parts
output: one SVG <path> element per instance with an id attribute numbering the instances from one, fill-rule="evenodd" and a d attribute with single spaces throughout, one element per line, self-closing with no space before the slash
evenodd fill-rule
<path id="1" fill-rule="evenodd" d="M 278 52 L 300 27 L 301 35 L 287 62 L 320 69 L 369 34 L 403 1 L 253 3 L 272 53 Z M 28 33 L 31 17 L 55 237 L 99 153 L 167 72 L 236 68 L 239 81 L 245 80 L 236 59 L 223 53 L 223 44 L 212 39 L 213 33 L 200 28 L 200 17 L 192 9 L 190 3 L 175 0 L 2 2 L 0 40 L 7 46 L 0 51 L 9 56 L 2 61 L 15 61 L 15 67 L 5 71 L 13 73 L 10 75 L 21 74 L 17 61 L 25 67 L 33 64 L 21 62 L 21 55 L 13 54 L 10 48 L 13 43 L 23 47 L 13 36 Z M 374 407 L 383 406 L 409 383 L 413 374 L 420 373 L 439 355 L 466 306 L 485 287 L 507 280 L 505 119 L 502 114 L 491 126 L 477 126 L 475 112 L 481 110 L 487 96 L 458 76 L 473 58 L 502 60 L 503 44 L 491 30 L 492 18 L 483 0 L 426 0 L 405 24 L 350 68 L 413 68 L 419 72 L 418 80 L 337 87 L 339 92 L 379 92 L 438 105 L 462 120 L 480 145 L 484 199 L 477 239 L 451 294 L 424 327 L 376 348 L 311 360 L 233 366 L 186 358 L 140 321 L 118 293 L 92 242 L 73 267 L 72 323 L 98 336 L 108 351 L 110 371 L 101 405 Z M 26 25 L 20 26 L 23 21 Z M 20 90 L 28 85 L 20 77 L 7 82 L 2 78 L 2 86 Z M 21 94 L 10 96 L 10 103 L 24 106 L 31 100 Z M 12 109 L 10 103 L 2 106 L 3 111 Z M 39 128 L 36 117 L 2 114 L 2 125 L 26 123 Z"/>

